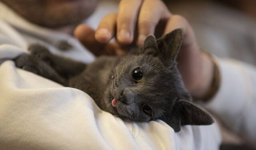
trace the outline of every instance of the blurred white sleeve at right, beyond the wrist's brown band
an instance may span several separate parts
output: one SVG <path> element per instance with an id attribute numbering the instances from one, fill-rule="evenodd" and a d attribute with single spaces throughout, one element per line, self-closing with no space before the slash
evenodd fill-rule
<path id="1" fill-rule="evenodd" d="M 219 59 L 221 85 L 206 108 L 216 113 L 234 131 L 256 140 L 256 68 Z"/>

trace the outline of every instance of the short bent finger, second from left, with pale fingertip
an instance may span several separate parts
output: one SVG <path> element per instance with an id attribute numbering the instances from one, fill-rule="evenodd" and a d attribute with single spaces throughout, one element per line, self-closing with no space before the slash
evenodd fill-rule
<path id="1" fill-rule="evenodd" d="M 107 43 L 116 33 L 117 14 L 112 13 L 105 16 L 101 21 L 95 33 L 95 39 L 100 43 Z"/>

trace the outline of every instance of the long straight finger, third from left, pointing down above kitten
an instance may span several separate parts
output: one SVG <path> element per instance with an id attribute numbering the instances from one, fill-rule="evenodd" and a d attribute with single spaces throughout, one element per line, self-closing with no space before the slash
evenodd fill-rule
<path id="1" fill-rule="evenodd" d="M 117 40 L 121 44 L 130 44 L 134 38 L 134 28 L 142 0 L 122 0 L 117 16 Z"/>

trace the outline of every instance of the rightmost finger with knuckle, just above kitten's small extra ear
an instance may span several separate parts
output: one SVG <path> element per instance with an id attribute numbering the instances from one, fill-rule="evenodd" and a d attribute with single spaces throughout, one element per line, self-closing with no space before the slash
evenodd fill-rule
<path id="1" fill-rule="evenodd" d="M 154 34 L 156 25 L 161 19 L 170 18 L 171 14 L 160 0 L 144 0 L 138 17 L 137 45 L 143 45 L 146 36 Z"/>

